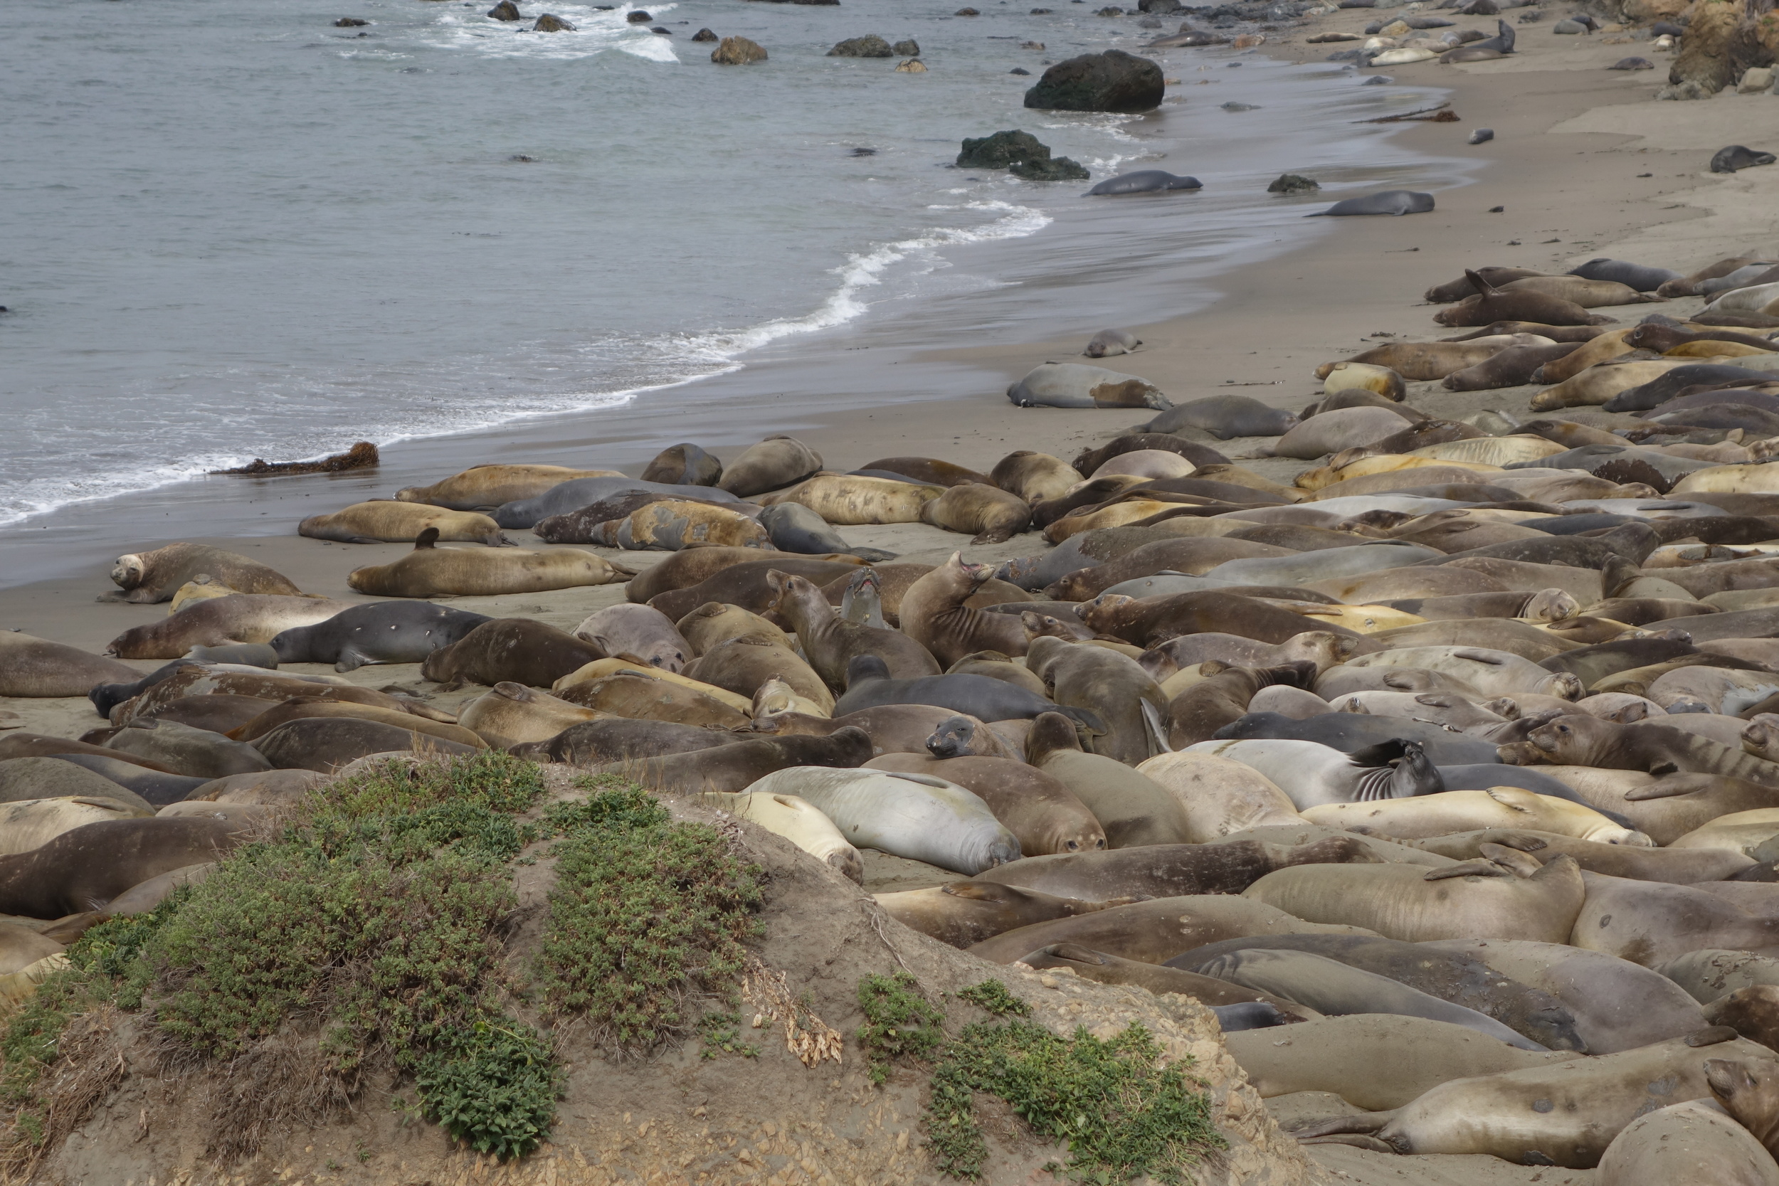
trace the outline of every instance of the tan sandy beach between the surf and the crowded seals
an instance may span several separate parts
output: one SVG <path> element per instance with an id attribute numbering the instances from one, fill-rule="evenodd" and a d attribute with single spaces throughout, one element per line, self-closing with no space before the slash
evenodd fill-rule
<path id="1" fill-rule="evenodd" d="M 1669 53 L 1653 50 L 1647 39 L 1631 39 L 1628 30 L 1617 27 L 1589 36 L 1558 36 L 1551 32 L 1557 16 L 1551 7 L 1541 23 L 1519 25 L 1516 53 L 1501 60 L 1462 66 L 1432 60 L 1356 71 L 1354 85 L 1366 73 L 1388 73 L 1397 87 L 1439 94 L 1436 101 L 1450 105 L 1459 116 L 1455 123 L 1411 121 L 1391 135 L 1425 156 L 1473 162 L 1473 183 L 1439 190 L 1430 213 L 1341 219 L 1283 256 L 1224 272 L 1213 281 L 1215 299 L 1208 306 L 1181 317 L 1123 325 L 1142 338 L 1142 349 L 1101 365 L 1153 382 L 1176 404 L 1240 393 L 1299 411 L 1320 398 L 1313 372 L 1322 363 L 1382 341 L 1434 341 L 1461 333 L 1432 322 L 1437 306 L 1425 304 L 1421 292 L 1461 276 L 1464 268 L 1500 265 L 1558 274 L 1610 256 L 1690 272 L 1729 254 L 1779 254 L 1779 167 L 1735 174 L 1708 171 L 1711 155 L 1726 144 L 1779 148 L 1779 96 L 1726 91 L 1706 101 L 1654 101 L 1672 60 Z M 1308 44 L 1308 37 L 1325 30 L 1357 32 L 1370 20 L 1373 12 L 1368 9 L 1313 18 L 1268 34 L 1256 53 L 1318 62 L 1345 43 Z M 1493 20 L 1461 18 L 1461 23 L 1487 28 Z M 1190 64 L 1201 60 L 1222 69 L 1222 57 L 1201 59 L 1195 53 L 1176 50 L 1169 55 L 1169 76 L 1179 71 L 1181 78 L 1171 92 L 1183 91 L 1188 110 L 1204 108 L 1206 119 L 1224 117 L 1213 110 L 1215 94 L 1206 96 L 1217 87 L 1201 87 L 1199 76 L 1187 73 Z M 1606 69 L 1631 53 L 1651 57 L 1656 69 Z M 1494 139 L 1466 144 L 1477 128 L 1493 128 Z M 1155 167 L 1190 172 L 1192 162 L 1171 158 Z M 1381 181 L 1379 188 L 1386 185 Z M 1304 213 L 1320 208 L 1315 197 L 1272 199 L 1256 194 L 1256 201 L 1290 201 Z M 1628 325 L 1653 311 L 1679 318 L 1701 306 L 1699 297 L 1681 297 L 1667 304 L 1594 313 Z M 151 493 L 144 501 L 164 503 L 164 521 L 155 530 L 144 530 L 130 549 L 148 551 L 174 541 L 212 544 L 270 565 L 308 594 L 372 601 L 347 587 L 347 573 L 397 560 L 409 551 L 409 544 L 301 539 L 297 521 L 359 500 L 386 498 L 415 475 L 438 480 L 473 462 L 584 464 L 639 475 L 667 425 L 674 439 L 696 441 L 724 459 L 765 434 L 788 432 L 815 448 L 833 471 L 884 457 L 936 457 L 987 471 L 1012 450 L 1073 459 L 1149 414 L 1021 409 L 1003 391 L 1039 363 L 1087 361 L 1080 357 L 1082 345 L 1101 327 L 1083 322 L 1041 340 L 984 327 L 975 345 L 936 350 L 904 341 L 893 350 L 857 350 L 850 361 L 845 357 L 847 336 L 834 334 L 751 363 L 749 372 L 728 386 L 713 381 L 653 393 L 635 405 L 601 413 L 596 421 L 571 416 L 489 430 L 470 441 L 404 443 L 388 448 L 384 468 L 372 473 L 210 478 L 201 503 L 189 496 Z M 847 366 L 856 373 L 849 389 L 856 405 L 834 409 L 813 388 L 818 379 Z M 888 393 L 882 402 L 857 398 L 879 382 Z M 1526 418 L 1537 389 L 1528 384 L 1452 393 L 1439 382 L 1411 382 L 1407 398 L 1445 420 L 1485 409 Z M 729 395 L 713 400 L 719 391 Z M 1270 441 L 1263 437 L 1231 439 L 1217 443 L 1217 448 L 1281 484 L 1316 464 L 1265 455 Z M 253 523 L 254 528 L 215 530 L 201 510 L 206 503 L 219 507 L 219 517 L 237 526 Z M 114 589 L 107 573 L 117 553 L 107 546 L 110 537 L 103 509 L 82 507 L 69 521 L 71 526 L 55 516 L 32 521 L 28 533 L 34 539 L 14 532 L 14 544 L 32 549 L 34 564 L 55 564 L 66 571 L 0 589 L 0 626 L 101 653 L 125 629 L 165 617 L 165 605 L 109 599 Z M 934 565 L 954 551 L 968 562 L 998 564 L 1048 548 L 1037 533 L 975 546 L 968 535 L 925 525 L 838 530 L 852 544 Z M 523 548 L 548 548 L 528 532 L 509 533 Z M 632 567 L 658 564 L 672 555 L 594 551 Z M 78 562 L 71 560 L 76 553 Z M 573 629 L 589 613 L 623 603 L 624 585 L 434 601 Z M 148 672 L 158 661 L 139 660 L 132 665 Z M 333 674 L 322 665 L 286 665 L 286 670 Z M 418 665 L 361 667 L 347 677 L 361 686 L 420 697 L 443 711 L 455 711 L 486 692 L 475 685 L 441 692 L 420 677 Z M 11 713 L 5 727 L 64 738 L 103 724 L 85 699 L 4 699 L 0 709 Z M 866 891 L 920 889 L 948 878 L 943 869 L 882 853 L 866 853 L 865 864 Z M 1329 1101 L 1350 1111 L 1338 1097 L 1299 1095 L 1283 1097 L 1274 1106 L 1281 1122 L 1329 1115 Z M 628 1111 L 624 1118 L 630 1120 Z M 1281 1172 L 1279 1181 L 1364 1186 L 1587 1186 L 1596 1181 L 1592 1170 L 1517 1166 L 1482 1156 L 1389 1156 L 1340 1145 L 1309 1147 L 1309 1156 L 1315 1168 L 1302 1175 L 1297 1168 Z M 1042 1181 L 1035 1165 L 1032 1174 L 1034 1181 Z"/>

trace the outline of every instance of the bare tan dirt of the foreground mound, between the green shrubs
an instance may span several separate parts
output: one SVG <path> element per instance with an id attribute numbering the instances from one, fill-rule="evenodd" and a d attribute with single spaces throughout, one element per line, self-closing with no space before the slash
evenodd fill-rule
<path id="1" fill-rule="evenodd" d="M 550 800 L 575 802 L 560 766 L 546 768 Z M 318 1070 L 317 1042 L 294 1019 L 274 1038 L 235 1056 L 169 1054 L 153 1024 L 155 996 L 135 1010 L 101 1008 L 68 1028 L 76 1060 L 52 1065 L 39 1094 L 85 1111 L 66 1140 L 44 1150 L 28 1181 L 43 1182 L 941 1182 L 923 1113 L 932 1062 L 895 1062 L 884 1086 L 868 1078 L 856 1031 L 866 1022 L 859 983 L 909 974 L 916 992 L 945 1014 L 945 1033 L 998 1024 L 959 992 L 998 978 L 1030 1005 L 1021 1021 L 1060 1037 L 1085 1030 L 1114 1042 L 1140 1024 L 1160 1065 L 1185 1067 L 1203 1083 L 1208 1118 L 1228 1142 L 1206 1154 L 1201 1182 L 1292 1186 L 1320 1181 L 1295 1142 L 1281 1136 L 1258 1094 L 1229 1058 L 1215 1017 L 1199 1003 L 1099 985 L 1067 973 L 994 967 L 890 919 L 857 885 L 788 841 L 710 809 L 669 802 L 676 821 L 704 823 L 731 852 L 758 866 L 760 934 L 747 942 L 738 994 L 694 998 L 697 1037 L 651 1053 L 612 1058 L 585 1019 L 551 1019 L 530 982 L 551 932 L 559 841 L 534 839 L 511 864 L 516 910 L 502 932 L 514 985 L 503 1008 L 514 1026 L 535 1024 L 555 1046 L 560 1097 L 548 1142 L 500 1163 L 468 1152 L 422 1118 L 416 1083 L 397 1063 L 366 1063 L 349 1097 L 311 1099 L 318 1122 L 283 1110 L 253 1142 L 244 1126 L 267 1120 L 256 1097 L 334 1090 Z M 539 818 L 548 804 L 530 816 Z M 544 813 L 546 814 L 546 813 Z M 568 873 L 564 873 L 568 877 Z M 557 907 L 559 909 L 559 907 Z M 662 935 L 667 946 L 674 937 Z M 904 982 L 906 983 L 906 982 Z M 978 996 L 980 994 L 973 994 Z M 715 1022 L 710 1019 L 717 1017 Z M 610 1030 L 603 1031 L 608 1038 Z M 178 1056 L 174 1056 L 178 1054 Z M 1190 1060 L 1190 1062 L 1188 1062 Z M 60 1078 L 57 1078 L 60 1076 Z M 281 1120 L 278 1117 L 283 1117 Z M 1055 1181 L 1041 1170 L 1069 1150 L 1037 1136 L 993 1095 L 975 1097 L 987 1143 L 984 1182 Z M 1094 1122 L 1091 1118 L 1089 1122 Z M 226 1163 L 244 1143 L 256 1152 Z"/>

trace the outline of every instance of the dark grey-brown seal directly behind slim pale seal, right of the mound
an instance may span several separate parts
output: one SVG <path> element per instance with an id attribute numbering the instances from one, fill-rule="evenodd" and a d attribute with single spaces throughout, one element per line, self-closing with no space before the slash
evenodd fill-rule
<path id="1" fill-rule="evenodd" d="M 1494 971 L 1487 962 L 1471 953 L 1434 948 L 1436 944 L 1429 942 L 1400 942 L 1375 937 L 1272 935 L 1267 939 L 1226 939 L 1224 942 L 1187 951 L 1169 960 L 1169 967 L 1185 967 L 1206 976 L 1229 980 L 1228 973 L 1236 966 L 1222 964 L 1217 967 L 1220 960 L 1228 960 L 1229 957 L 1256 951 L 1313 955 L 1348 969 L 1386 978 L 1398 987 L 1432 998 L 1439 1005 L 1462 1008 L 1471 1017 L 1457 1017 L 1443 1008 L 1430 1008 L 1429 1001 L 1404 998 L 1398 998 L 1389 1008 L 1366 1008 L 1364 998 L 1373 994 L 1384 998 L 1389 992 L 1388 985 L 1361 989 L 1350 980 L 1340 985 L 1336 976 L 1329 974 L 1332 969 L 1322 969 L 1322 974 L 1318 974 L 1308 967 L 1279 967 L 1279 974 L 1299 980 L 1300 989 L 1284 990 L 1284 982 L 1277 982 L 1277 987 L 1267 987 L 1267 990 L 1327 1015 L 1400 1012 L 1413 1017 L 1468 1024 L 1521 1049 L 1587 1049 L 1576 1030 L 1574 1015 L 1557 996 Z M 1249 987 L 1265 987 L 1251 983 L 1247 978 L 1236 980 L 1238 983 L 1249 983 Z M 1325 1006 L 1316 1003 L 1316 996 L 1322 992 L 1316 987 L 1318 980 L 1325 980 L 1327 989 L 1334 992 L 1334 996 L 1322 998 Z M 1485 1017 L 1491 1024 L 1478 1026 L 1477 1017 Z"/>

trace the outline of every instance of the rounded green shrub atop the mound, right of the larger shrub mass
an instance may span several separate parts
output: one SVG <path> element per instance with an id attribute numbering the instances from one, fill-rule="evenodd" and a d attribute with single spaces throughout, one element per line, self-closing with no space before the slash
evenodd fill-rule
<path id="1" fill-rule="evenodd" d="M 534 973 L 553 1015 L 584 1014 L 626 1056 L 688 1033 L 688 996 L 733 1001 L 744 942 L 760 934 L 760 866 L 708 825 L 671 823 L 633 786 L 548 820 L 566 837 Z"/>

